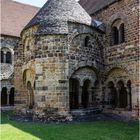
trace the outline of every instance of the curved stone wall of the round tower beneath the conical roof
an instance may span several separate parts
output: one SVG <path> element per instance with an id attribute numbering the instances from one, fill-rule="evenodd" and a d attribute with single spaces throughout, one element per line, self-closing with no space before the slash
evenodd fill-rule
<path id="1" fill-rule="evenodd" d="M 92 79 L 91 87 L 99 78 L 103 67 L 102 35 L 86 25 L 74 23 L 69 23 L 68 35 L 37 36 L 34 35 L 36 30 L 37 27 L 25 30 L 21 46 L 16 50 L 17 102 L 29 106 L 28 83 L 31 83 L 35 110 L 55 108 L 59 112 L 67 112 L 72 74 L 85 67 L 86 78 Z M 90 38 L 87 47 L 84 46 L 86 36 Z"/>

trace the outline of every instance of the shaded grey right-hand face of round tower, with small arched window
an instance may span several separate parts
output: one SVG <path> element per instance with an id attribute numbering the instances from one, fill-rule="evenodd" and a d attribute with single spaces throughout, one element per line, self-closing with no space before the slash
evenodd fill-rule
<path id="1" fill-rule="evenodd" d="M 95 107 L 101 98 L 103 70 L 103 34 L 85 25 L 69 23 L 69 78 L 79 81 L 79 104 L 86 80 L 90 81 L 89 106 Z M 86 37 L 89 38 L 87 45 Z M 85 46 L 86 45 L 86 46 Z M 98 88 L 97 88 L 98 84 Z M 96 99 L 93 96 L 96 94 Z M 97 101 L 98 100 L 98 101 Z"/>

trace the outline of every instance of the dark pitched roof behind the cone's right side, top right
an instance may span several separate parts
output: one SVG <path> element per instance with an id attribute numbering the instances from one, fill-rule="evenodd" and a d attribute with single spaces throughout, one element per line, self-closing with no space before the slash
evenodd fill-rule
<path id="1" fill-rule="evenodd" d="M 80 5 L 91 15 L 119 0 L 80 0 Z"/>

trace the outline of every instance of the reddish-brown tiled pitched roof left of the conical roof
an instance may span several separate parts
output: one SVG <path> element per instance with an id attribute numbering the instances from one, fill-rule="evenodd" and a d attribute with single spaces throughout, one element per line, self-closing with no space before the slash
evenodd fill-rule
<path id="1" fill-rule="evenodd" d="M 0 33 L 17 37 L 20 36 L 21 30 L 40 9 L 12 0 L 0 0 L 0 4 Z"/>

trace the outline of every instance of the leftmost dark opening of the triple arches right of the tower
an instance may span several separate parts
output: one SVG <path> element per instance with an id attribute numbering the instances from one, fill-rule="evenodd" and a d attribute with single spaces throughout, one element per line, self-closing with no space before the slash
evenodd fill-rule
<path id="1" fill-rule="evenodd" d="M 109 105 L 111 105 L 112 108 L 116 108 L 117 107 L 117 90 L 114 87 L 114 83 L 112 81 L 108 82 L 108 102 Z"/>

